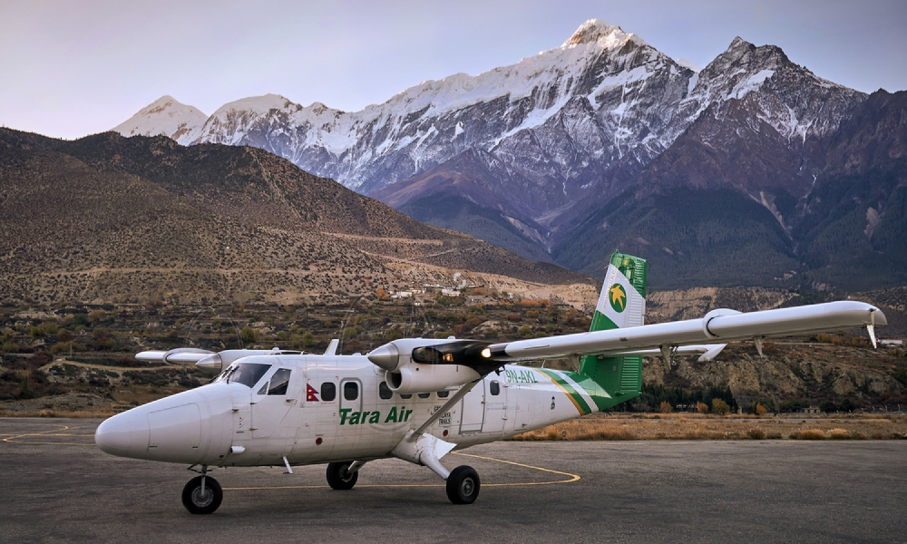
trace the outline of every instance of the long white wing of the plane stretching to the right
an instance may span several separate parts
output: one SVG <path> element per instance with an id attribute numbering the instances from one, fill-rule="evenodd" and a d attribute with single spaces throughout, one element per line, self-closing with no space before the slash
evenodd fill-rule
<path id="1" fill-rule="evenodd" d="M 490 345 L 494 361 L 528 361 L 573 355 L 629 355 L 662 346 L 725 344 L 734 340 L 809 335 L 867 327 L 875 343 L 874 325 L 887 325 L 879 308 L 851 300 L 741 314 L 713 310 L 701 319 L 533 338 Z"/>

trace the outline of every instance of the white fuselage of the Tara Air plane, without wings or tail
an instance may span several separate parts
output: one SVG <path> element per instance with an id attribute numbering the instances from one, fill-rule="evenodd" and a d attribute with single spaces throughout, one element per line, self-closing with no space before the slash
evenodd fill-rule
<path id="1" fill-rule="evenodd" d="M 251 387 L 215 382 L 116 415 L 99 428 L 99 446 L 123 457 L 211 466 L 368 461 L 392 456 L 455 393 L 390 392 L 382 387 L 385 372 L 364 355 L 258 355 L 237 363 L 269 368 Z M 289 371 L 286 392 L 268 394 L 280 369 Z M 333 397 L 325 384 L 333 384 Z M 424 433 L 462 449 L 580 413 L 548 375 L 506 365 Z"/>

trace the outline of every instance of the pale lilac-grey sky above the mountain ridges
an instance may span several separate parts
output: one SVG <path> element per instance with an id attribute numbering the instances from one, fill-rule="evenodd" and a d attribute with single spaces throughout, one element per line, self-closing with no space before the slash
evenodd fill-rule
<path id="1" fill-rule="evenodd" d="M 561 45 L 597 18 L 705 66 L 736 35 L 863 92 L 907 89 L 904 0 L 0 0 L 0 125 L 107 131 L 164 94 L 346 111 Z"/>

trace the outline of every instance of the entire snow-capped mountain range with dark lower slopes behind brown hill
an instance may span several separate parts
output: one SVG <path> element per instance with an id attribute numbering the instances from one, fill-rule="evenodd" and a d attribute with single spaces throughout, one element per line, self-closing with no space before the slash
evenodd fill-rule
<path id="1" fill-rule="evenodd" d="M 205 118 L 164 97 L 116 130 L 165 134 L 184 145 L 262 148 L 416 219 L 590 274 L 600 263 L 584 256 L 598 255 L 602 244 L 615 247 L 619 237 L 636 240 L 642 255 L 664 249 L 658 254 L 668 259 L 664 269 L 693 253 L 711 262 L 720 251 L 746 263 L 755 246 L 746 255 L 734 252 L 756 230 L 774 237 L 765 251 L 780 252 L 775 262 L 785 264 L 778 267 L 795 267 L 803 202 L 821 184 L 835 134 L 865 101 L 774 45 L 738 37 L 699 68 L 619 26 L 590 20 L 560 46 L 519 63 L 424 82 L 359 112 L 268 94 L 230 102 Z M 711 204 L 697 213 L 733 209 L 755 218 L 738 229 L 741 243 L 720 249 L 703 246 L 701 237 L 668 243 L 674 235 L 659 231 L 658 221 L 650 239 L 614 230 L 624 220 L 608 213 L 658 218 L 680 201 L 686 208 L 669 213 L 684 224 L 700 197 L 665 197 L 678 188 L 726 191 L 702 197 Z M 734 217 L 701 232 L 730 228 Z M 689 248 L 680 249 L 684 244 Z M 700 276 L 698 267 L 682 266 L 683 277 L 693 279 L 677 285 Z M 771 282 L 776 273 L 786 274 L 766 268 L 757 281 Z"/>

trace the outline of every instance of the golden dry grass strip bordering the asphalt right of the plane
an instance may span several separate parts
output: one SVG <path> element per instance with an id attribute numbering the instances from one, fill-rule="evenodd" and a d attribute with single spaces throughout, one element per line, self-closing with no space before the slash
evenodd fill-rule
<path id="1" fill-rule="evenodd" d="M 865 440 L 907 439 L 907 415 L 756 418 L 701 414 L 587 416 L 512 440 Z"/>

